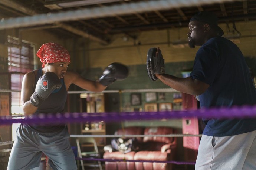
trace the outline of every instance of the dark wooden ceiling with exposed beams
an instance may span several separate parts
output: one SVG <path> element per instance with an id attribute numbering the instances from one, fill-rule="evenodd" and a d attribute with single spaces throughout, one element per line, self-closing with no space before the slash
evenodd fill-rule
<path id="1" fill-rule="evenodd" d="M 190 18 L 198 11 L 212 11 L 219 23 L 256 20 L 256 0 L 223 0 L 218 3 L 189 5 L 164 9 L 148 9 L 146 12 L 112 14 L 103 17 L 73 19 L 43 25 L 23 26 L 22 29 L 47 30 L 61 38 L 90 37 L 108 43 L 114 34 L 123 33 L 130 37 L 141 31 L 187 27 Z M 209 0 L 210 1 L 210 0 Z M 70 3 L 72 2 L 72 3 Z M 62 13 L 81 9 L 104 9 L 139 3 L 155 3 L 158 0 L 0 0 L 0 21 L 10 18 L 36 16 L 39 14 Z M 160 2 L 160 1 L 159 1 Z M 178 2 L 173 0 L 173 2 Z M 0 22 L 1 24 L 1 22 Z M 6 28 L 7 29 L 7 28 Z"/>

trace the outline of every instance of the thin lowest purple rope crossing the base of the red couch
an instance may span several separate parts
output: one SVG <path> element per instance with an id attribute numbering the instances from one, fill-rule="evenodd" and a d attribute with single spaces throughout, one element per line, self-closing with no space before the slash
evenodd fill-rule
<path id="1" fill-rule="evenodd" d="M 186 162 L 186 161 L 160 161 L 160 160 L 128 160 L 128 159 L 101 159 L 101 158 L 79 158 L 77 160 L 95 160 L 95 161 L 108 161 L 108 162 L 156 162 L 156 163 L 172 163 L 177 165 L 194 165 L 196 162 Z"/>

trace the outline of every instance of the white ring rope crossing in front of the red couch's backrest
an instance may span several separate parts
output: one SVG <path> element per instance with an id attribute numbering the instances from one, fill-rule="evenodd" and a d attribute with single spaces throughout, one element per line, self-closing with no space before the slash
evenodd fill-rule
<path id="1" fill-rule="evenodd" d="M 168 134 L 168 135 L 70 135 L 70 137 L 202 137 L 202 134 Z"/>

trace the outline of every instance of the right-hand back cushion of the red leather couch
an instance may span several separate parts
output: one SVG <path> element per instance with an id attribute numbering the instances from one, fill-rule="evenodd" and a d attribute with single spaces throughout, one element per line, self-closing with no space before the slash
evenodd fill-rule
<path id="1" fill-rule="evenodd" d="M 159 127 L 147 127 L 144 130 L 144 135 L 168 135 L 173 134 L 173 128 L 166 126 Z M 161 142 L 161 143 L 171 143 L 173 142 L 173 137 L 151 137 L 145 136 L 143 142 Z"/>

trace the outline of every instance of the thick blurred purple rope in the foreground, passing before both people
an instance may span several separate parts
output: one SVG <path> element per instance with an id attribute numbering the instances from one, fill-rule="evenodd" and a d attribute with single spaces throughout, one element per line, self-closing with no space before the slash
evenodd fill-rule
<path id="1" fill-rule="evenodd" d="M 113 112 L 113 113 L 57 113 L 31 115 L 24 119 L 13 119 L 12 116 L 1 116 L 0 125 L 12 123 L 30 124 L 55 124 L 55 123 L 78 123 L 78 122 L 120 122 L 124 120 L 153 120 L 153 119 L 178 119 L 178 118 L 252 118 L 256 117 L 256 105 L 233 106 L 223 108 L 208 108 L 186 111 L 164 112 Z M 47 123 L 46 123 L 47 122 Z"/>

